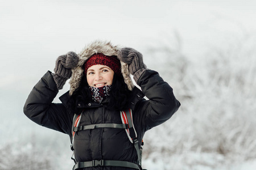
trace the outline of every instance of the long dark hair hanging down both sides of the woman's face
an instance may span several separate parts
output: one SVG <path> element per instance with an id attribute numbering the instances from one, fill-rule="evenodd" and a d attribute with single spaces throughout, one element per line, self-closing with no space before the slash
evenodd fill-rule
<path id="1" fill-rule="evenodd" d="M 128 108 L 131 91 L 128 89 L 122 75 L 114 74 L 112 88 L 110 91 L 110 99 L 107 105 L 108 109 L 122 111 Z M 89 103 L 92 101 L 92 92 L 89 89 L 86 76 L 82 76 L 79 88 L 75 90 L 68 101 L 69 112 L 80 113 L 81 110 L 76 106 L 79 102 Z"/>

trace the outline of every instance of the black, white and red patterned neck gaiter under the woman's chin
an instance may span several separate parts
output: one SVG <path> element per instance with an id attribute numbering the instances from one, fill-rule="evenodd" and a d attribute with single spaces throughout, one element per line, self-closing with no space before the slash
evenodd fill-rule
<path id="1" fill-rule="evenodd" d="M 98 103 L 101 103 L 106 97 L 110 95 L 112 85 L 107 85 L 103 87 L 91 87 L 92 99 Z"/>

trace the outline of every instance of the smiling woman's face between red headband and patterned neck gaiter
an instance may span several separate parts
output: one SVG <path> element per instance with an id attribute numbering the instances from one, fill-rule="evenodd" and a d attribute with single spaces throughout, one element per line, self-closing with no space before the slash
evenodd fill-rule
<path id="1" fill-rule="evenodd" d="M 114 71 L 105 65 L 93 65 L 89 67 L 86 73 L 86 79 L 89 86 L 103 87 L 113 82 Z"/>

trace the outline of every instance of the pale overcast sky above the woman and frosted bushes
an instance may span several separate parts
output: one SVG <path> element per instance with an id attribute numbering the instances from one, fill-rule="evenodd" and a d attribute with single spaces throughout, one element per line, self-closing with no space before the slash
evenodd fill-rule
<path id="1" fill-rule="evenodd" d="M 40 77 L 53 71 L 58 56 L 80 52 L 96 39 L 143 53 L 151 42 L 176 32 L 184 53 L 196 56 L 217 39 L 227 41 L 226 34 L 256 31 L 253 0 L 0 2 L 2 109 L 10 101 L 24 103 Z"/>

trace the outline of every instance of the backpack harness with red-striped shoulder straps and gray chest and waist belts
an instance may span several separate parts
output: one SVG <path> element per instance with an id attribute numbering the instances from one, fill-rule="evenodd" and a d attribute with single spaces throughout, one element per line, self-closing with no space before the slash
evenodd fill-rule
<path id="1" fill-rule="evenodd" d="M 74 160 L 75 165 L 73 170 L 79 168 L 86 168 L 86 167 L 98 167 L 98 166 L 114 166 L 114 167 L 127 167 L 127 168 L 134 168 L 139 170 L 146 170 L 142 169 L 141 167 L 141 160 L 142 160 L 142 150 L 143 148 L 139 148 L 139 142 L 137 138 L 137 132 L 134 128 L 133 124 L 133 113 L 131 109 L 126 109 L 126 111 L 120 111 L 120 116 L 123 124 L 93 124 L 93 125 L 86 125 L 86 126 L 79 126 L 82 114 L 75 114 L 73 117 L 73 125 L 72 125 L 72 143 L 71 143 L 71 150 L 73 151 L 73 155 L 75 153 L 75 149 L 73 148 L 74 138 L 76 131 L 80 130 L 88 130 L 94 128 L 118 128 L 118 129 L 125 129 L 127 137 L 129 138 L 130 142 L 134 144 L 135 150 L 137 151 L 138 160 L 137 163 L 131 163 L 126 161 L 119 161 L 119 160 L 92 160 L 89 162 L 76 162 L 73 155 L 71 157 Z M 143 145 L 143 141 L 142 141 Z"/>

